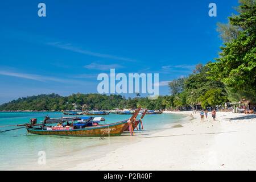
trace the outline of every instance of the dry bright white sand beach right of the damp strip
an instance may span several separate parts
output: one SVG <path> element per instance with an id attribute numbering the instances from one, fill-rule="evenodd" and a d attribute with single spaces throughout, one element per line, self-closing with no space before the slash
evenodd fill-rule
<path id="1" fill-rule="evenodd" d="M 166 112 L 167 113 L 167 112 Z M 68 170 L 255 170 L 256 115 L 199 113 Z"/>

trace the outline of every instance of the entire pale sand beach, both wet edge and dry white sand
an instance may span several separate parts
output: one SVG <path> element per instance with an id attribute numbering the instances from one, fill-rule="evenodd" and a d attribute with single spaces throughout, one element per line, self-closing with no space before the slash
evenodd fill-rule
<path id="1" fill-rule="evenodd" d="M 134 137 L 105 138 L 100 144 L 63 152 L 47 158 L 47 165 L 36 160 L 14 170 L 255 170 L 256 115 L 217 112 L 216 121 L 208 113 L 164 111 L 184 115 L 163 128 L 138 131 Z M 157 122 L 157 121 L 156 121 Z M 98 140 L 97 138 L 89 139 Z M 31 165 L 31 163 L 34 163 Z M 7 169 L 9 170 L 9 169 Z"/>

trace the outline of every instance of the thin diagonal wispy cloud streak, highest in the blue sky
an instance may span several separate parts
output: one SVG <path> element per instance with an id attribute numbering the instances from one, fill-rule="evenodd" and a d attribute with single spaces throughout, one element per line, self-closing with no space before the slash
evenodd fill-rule
<path id="1" fill-rule="evenodd" d="M 130 59 L 127 57 L 121 57 L 121 56 L 109 55 L 109 54 L 105 54 L 105 53 L 88 51 L 85 49 L 81 49 L 81 48 L 72 46 L 72 44 L 63 44 L 61 42 L 51 42 L 51 43 L 47 43 L 47 44 L 50 46 L 65 49 L 65 50 L 72 51 L 72 52 L 82 53 L 84 55 L 89 55 L 89 56 L 95 56 L 95 57 L 101 57 L 101 58 L 107 58 L 107 59 L 113 59 L 113 60 L 120 60 L 120 61 L 135 61 L 134 59 Z"/>

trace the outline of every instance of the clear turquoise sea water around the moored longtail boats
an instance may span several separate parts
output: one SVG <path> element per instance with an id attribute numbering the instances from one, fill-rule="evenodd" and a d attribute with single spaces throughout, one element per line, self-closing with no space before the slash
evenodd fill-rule
<path id="1" fill-rule="evenodd" d="M 27 123 L 30 121 L 30 118 L 38 118 L 39 123 L 46 115 L 51 118 L 64 116 L 59 112 L 0 112 L 0 126 Z M 106 119 L 106 123 L 113 123 L 123 121 L 129 118 L 130 115 L 109 114 L 102 117 Z M 151 132 L 164 129 L 168 124 L 178 122 L 183 117 L 183 115 L 179 114 L 146 115 L 143 118 L 144 130 L 139 131 L 138 134 L 150 134 Z M 0 130 L 13 128 L 0 127 Z M 129 136 L 132 139 L 136 137 L 138 136 Z M 127 140 L 127 136 L 110 137 L 110 140 L 112 140 L 112 143 L 115 143 L 115 141 L 122 142 L 122 140 Z M 26 129 L 0 133 L 0 170 L 22 169 L 23 166 L 32 165 L 37 162 L 39 151 L 45 151 L 47 158 L 55 159 L 75 154 L 81 150 L 88 150 L 89 154 L 89 150 L 93 147 L 104 146 L 105 144 L 109 144 L 109 140 L 32 135 L 27 134 Z"/>

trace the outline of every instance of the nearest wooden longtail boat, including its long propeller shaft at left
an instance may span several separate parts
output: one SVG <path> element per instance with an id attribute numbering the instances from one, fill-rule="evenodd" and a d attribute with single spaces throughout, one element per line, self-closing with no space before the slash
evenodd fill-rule
<path id="1" fill-rule="evenodd" d="M 18 130 L 26 128 L 28 133 L 38 135 L 60 135 L 67 137 L 105 137 L 105 136 L 118 136 L 131 127 L 131 121 L 136 121 L 136 117 L 139 114 L 139 108 L 134 114 L 125 121 L 114 122 L 110 124 L 100 124 L 101 121 L 105 121 L 102 117 L 62 117 L 62 118 L 49 118 L 46 117 L 42 123 L 38 124 L 37 119 L 30 119 L 30 123 L 24 123 L 21 125 L 7 125 L 0 127 L 16 126 L 18 128 L 8 129 L 0 131 L 5 133 L 6 131 Z M 57 123 L 57 126 L 56 126 Z M 55 125 L 54 125 L 55 124 Z M 52 126 L 53 125 L 53 126 Z M 133 133 L 131 133 L 133 135 Z"/>

